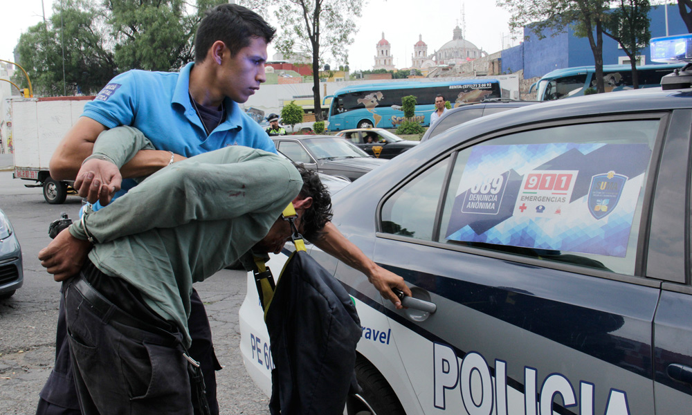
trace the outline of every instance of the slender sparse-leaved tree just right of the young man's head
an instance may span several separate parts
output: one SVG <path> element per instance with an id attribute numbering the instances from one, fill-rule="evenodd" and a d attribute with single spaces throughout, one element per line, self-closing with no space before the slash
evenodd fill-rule
<path id="1" fill-rule="evenodd" d="M 312 61 L 315 118 L 324 119 L 320 100 L 320 66 L 327 56 L 336 64 L 348 64 L 346 46 L 354 42 L 356 17 L 361 17 L 363 0 L 244 0 L 257 12 L 274 10 L 282 32 L 275 47 L 284 56 L 309 56 Z"/>

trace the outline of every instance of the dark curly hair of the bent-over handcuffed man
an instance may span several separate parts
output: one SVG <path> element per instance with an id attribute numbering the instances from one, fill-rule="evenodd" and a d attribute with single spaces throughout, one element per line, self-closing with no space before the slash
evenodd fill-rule
<path id="1" fill-rule="evenodd" d="M 312 205 L 302 215 L 303 236 L 309 240 L 318 239 L 322 235 L 322 228 L 331 221 L 331 196 L 316 172 L 306 169 L 302 164 L 295 165 L 295 168 L 303 179 L 299 196 L 302 199 L 312 198 Z"/>

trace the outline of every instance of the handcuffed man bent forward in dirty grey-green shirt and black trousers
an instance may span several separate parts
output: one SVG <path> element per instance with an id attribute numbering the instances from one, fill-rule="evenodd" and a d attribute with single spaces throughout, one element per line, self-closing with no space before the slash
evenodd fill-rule
<path id="1" fill-rule="evenodd" d="M 84 169 L 120 167 L 147 147 L 134 128 L 104 131 Z M 298 230 L 318 232 L 331 201 L 313 175 L 258 149 L 210 151 L 152 174 L 39 252 L 51 268 L 61 250 L 93 243 L 63 286 L 83 414 L 192 414 L 190 384 L 199 377 L 186 350 L 192 283 L 251 252 L 280 252 L 291 237 L 280 217 L 289 203 Z"/>

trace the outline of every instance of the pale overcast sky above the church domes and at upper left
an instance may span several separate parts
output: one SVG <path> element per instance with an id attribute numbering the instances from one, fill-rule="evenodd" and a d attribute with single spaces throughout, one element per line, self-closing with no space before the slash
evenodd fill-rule
<path id="1" fill-rule="evenodd" d="M 12 61 L 12 50 L 21 33 L 53 12 L 53 2 L 59 0 L 2 0 L 0 13 L 0 59 Z M 462 13 L 463 10 L 463 13 Z M 495 6 L 494 0 L 370 0 L 358 19 L 355 42 L 349 47 L 351 70 L 372 69 L 375 45 L 385 33 L 392 45 L 394 66 L 411 65 L 413 44 L 422 35 L 428 53 L 452 39 L 452 30 L 464 28 L 464 38 L 488 53 L 502 49 L 513 41 L 507 37 L 509 13 Z M 270 58 L 271 58 L 270 50 Z"/>

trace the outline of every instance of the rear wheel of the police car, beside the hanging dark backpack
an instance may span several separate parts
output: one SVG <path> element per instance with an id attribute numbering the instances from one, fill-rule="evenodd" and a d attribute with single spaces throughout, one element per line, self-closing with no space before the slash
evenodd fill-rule
<path id="1" fill-rule="evenodd" d="M 356 415 L 406 415 L 397 394 L 387 380 L 363 356 L 356 357 L 356 379 L 363 388 L 360 403 L 352 407 Z"/>

